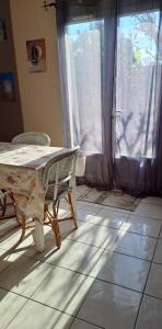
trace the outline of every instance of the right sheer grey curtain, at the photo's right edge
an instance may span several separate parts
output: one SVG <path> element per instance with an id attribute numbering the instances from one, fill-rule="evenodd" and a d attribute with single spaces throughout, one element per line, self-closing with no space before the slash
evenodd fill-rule
<path id="1" fill-rule="evenodd" d="M 114 172 L 116 186 L 134 194 L 162 193 L 160 5 L 118 5 Z"/>

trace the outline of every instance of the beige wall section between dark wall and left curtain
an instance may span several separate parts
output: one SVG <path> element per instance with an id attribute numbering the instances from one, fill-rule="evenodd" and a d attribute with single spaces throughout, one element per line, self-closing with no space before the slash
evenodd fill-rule
<path id="1" fill-rule="evenodd" d="M 61 101 L 58 75 L 55 9 L 40 0 L 10 0 L 24 131 L 49 134 L 53 145 L 62 145 Z M 30 73 L 26 41 L 45 38 L 47 72 Z"/>

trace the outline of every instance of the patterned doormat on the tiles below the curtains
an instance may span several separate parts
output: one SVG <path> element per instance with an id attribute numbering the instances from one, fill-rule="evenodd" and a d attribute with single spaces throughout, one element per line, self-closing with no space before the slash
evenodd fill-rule
<path id="1" fill-rule="evenodd" d="M 120 190 L 97 191 L 86 185 L 77 186 L 77 200 L 130 212 L 134 212 L 140 202 L 140 198 L 123 193 Z"/>

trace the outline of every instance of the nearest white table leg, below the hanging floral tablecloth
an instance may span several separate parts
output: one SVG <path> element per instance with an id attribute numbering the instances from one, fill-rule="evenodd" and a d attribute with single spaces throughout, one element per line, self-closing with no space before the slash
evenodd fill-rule
<path id="1" fill-rule="evenodd" d="M 35 243 L 37 251 L 44 250 L 44 225 L 43 220 L 35 218 Z"/>

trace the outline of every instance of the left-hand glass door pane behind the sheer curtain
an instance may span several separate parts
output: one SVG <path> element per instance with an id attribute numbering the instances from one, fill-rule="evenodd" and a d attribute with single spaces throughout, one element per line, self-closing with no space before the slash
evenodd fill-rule
<path id="1" fill-rule="evenodd" d="M 102 21 L 68 24 L 66 30 L 71 137 L 73 145 L 90 154 L 102 152 Z"/>

